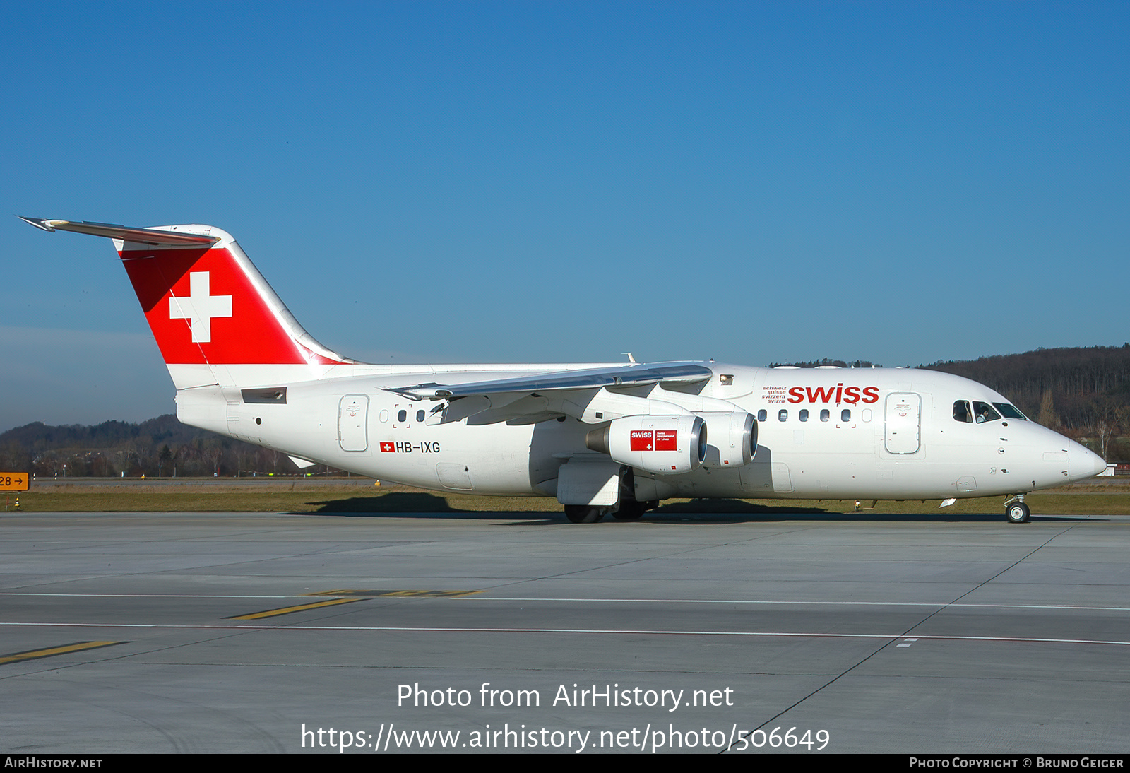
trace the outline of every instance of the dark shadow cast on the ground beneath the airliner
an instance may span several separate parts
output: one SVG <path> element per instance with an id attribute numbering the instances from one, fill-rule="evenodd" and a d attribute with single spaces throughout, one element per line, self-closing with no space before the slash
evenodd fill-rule
<path id="1" fill-rule="evenodd" d="M 565 520 L 562 512 L 546 511 L 480 511 L 452 507 L 443 495 L 420 492 L 390 493 L 381 496 L 351 497 L 312 502 L 319 505 L 313 513 L 294 513 L 296 515 L 346 515 L 350 518 L 420 518 L 453 520 L 492 520 L 513 519 L 523 523 L 559 523 Z M 531 518 L 532 516 L 532 518 Z M 541 518 L 538 518 L 541 516 Z M 1034 515 L 1038 521 L 1081 521 L 1088 519 L 1071 515 Z M 606 522 L 633 523 L 640 521 L 616 521 L 611 515 Z M 742 523 L 773 521 L 860 521 L 860 522 L 918 522 L 936 521 L 941 523 L 979 523 L 1003 522 L 998 512 L 989 513 L 876 513 L 863 510 L 858 513 L 843 513 L 820 507 L 797 507 L 783 502 L 773 504 L 754 504 L 744 500 L 692 500 L 661 505 L 649 511 L 642 522 L 659 523 Z"/>

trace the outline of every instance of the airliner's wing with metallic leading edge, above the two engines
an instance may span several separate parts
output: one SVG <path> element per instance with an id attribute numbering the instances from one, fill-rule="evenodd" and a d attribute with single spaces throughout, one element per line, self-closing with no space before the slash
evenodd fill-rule
<path id="1" fill-rule="evenodd" d="M 619 390 L 651 384 L 693 384 L 713 371 L 701 363 L 611 365 L 583 371 L 553 371 L 516 379 L 467 383 L 426 383 L 391 388 L 410 400 L 442 400 L 429 411 L 428 424 L 468 419 L 470 424 L 536 424 L 562 416 L 585 423 L 606 416 L 652 412 L 646 398 Z M 679 409 L 668 406 L 675 412 Z"/>

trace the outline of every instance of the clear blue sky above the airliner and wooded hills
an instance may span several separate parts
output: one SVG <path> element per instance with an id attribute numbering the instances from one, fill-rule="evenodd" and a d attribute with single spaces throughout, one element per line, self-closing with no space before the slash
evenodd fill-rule
<path id="1" fill-rule="evenodd" d="M 6 9 L 0 429 L 173 389 L 111 244 L 232 232 L 373 362 L 1130 339 L 1130 3 Z"/>

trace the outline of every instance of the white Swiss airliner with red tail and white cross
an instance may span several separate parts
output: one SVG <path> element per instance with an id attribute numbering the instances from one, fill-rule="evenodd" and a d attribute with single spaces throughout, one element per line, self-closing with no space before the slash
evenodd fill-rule
<path id="1" fill-rule="evenodd" d="M 325 348 L 229 234 L 21 218 L 114 240 L 185 424 L 442 492 L 556 497 L 571 521 L 669 497 L 1025 494 L 1105 462 L 967 379 L 905 368 L 372 365 Z"/>

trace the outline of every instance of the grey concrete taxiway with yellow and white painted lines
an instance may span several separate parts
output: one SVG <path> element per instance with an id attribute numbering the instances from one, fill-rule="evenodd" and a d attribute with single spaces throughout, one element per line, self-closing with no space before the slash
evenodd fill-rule
<path id="1" fill-rule="evenodd" d="M 8 514 L 0 746 L 1125 753 L 1128 527 Z"/>

